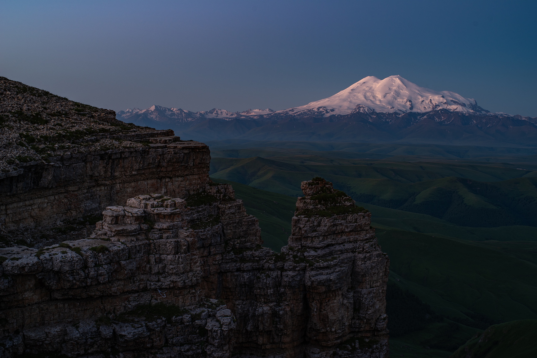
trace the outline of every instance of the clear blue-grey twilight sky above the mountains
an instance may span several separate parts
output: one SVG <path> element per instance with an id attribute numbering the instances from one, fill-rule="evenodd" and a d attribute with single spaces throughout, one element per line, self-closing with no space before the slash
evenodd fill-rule
<path id="1" fill-rule="evenodd" d="M 537 116 L 537 2 L 0 2 L 0 76 L 119 111 L 285 109 L 401 75 Z"/>

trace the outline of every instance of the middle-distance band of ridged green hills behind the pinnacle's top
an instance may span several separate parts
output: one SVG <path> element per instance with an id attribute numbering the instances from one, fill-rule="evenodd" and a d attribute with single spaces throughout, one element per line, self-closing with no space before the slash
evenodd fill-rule
<path id="1" fill-rule="evenodd" d="M 537 212 L 537 177 L 533 171 L 386 161 L 297 165 L 261 157 L 213 158 L 211 166 L 214 178 L 285 195 L 300 195 L 302 180 L 320 176 L 356 201 L 426 214 L 455 225 L 537 225 L 533 214 Z"/>

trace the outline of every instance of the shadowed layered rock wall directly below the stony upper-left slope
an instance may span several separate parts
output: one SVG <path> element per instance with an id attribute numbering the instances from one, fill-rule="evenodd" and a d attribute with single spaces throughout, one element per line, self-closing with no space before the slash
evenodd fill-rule
<path id="1" fill-rule="evenodd" d="M 91 222 L 107 206 L 147 192 L 186 196 L 207 184 L 207 145 L 180 141 L 172 131 L 125 137 L 148 143 L 53 156 L 50 163 L 19 164 L 13 175 L 0 176 L 4 240 L 35 245 L 52 243 L 62 233 L 71 233 L 64 239 L 83 238 L 91 230 L 81 232 L 80 224 Z"/>

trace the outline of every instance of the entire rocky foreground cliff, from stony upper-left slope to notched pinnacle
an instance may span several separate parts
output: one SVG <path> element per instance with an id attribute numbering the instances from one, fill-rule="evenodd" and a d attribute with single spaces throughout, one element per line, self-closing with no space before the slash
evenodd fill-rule
<path id="1" fill-rule="evenodd" d="M 0 248 L 0 358 L 388 357 L 388 257 L 371 214 L 330 182 L 302 182 L 277 253 L 233 188 L 209 179 L 207 145 L 2 81 L 25 104 L 0 107 L 4 134 L 19 131 L 0 138 L 17 158 L 0 177 L 2 235 L 19 243 Z M 35 114 L 36 98 L 101 125 L 85 132 L 98 145 L 52 144 L 42 130 L 68 120 Z"/>

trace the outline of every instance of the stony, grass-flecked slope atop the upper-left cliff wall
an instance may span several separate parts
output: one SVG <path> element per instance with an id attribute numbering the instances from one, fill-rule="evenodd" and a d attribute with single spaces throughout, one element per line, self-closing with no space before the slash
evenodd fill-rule
<path id="1" fill-rule="evenodd" d="M 173 136 L 173 131 L 125 123 L 110 109 L 0 77 L 0 174 L 17 171 L 21 163 L 48 163 L 62 154 L 151 147 L 143 138 L 164 136 Z M 179 144 L 178 139 L 173 145 L 202 144 Z"/>

